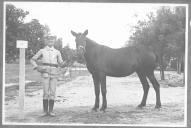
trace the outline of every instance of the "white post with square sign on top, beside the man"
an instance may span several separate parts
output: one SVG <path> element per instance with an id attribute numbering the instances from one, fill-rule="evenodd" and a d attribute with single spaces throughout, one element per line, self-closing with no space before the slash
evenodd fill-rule
<path id="1" fill-rule="evenodd" d="M 17 40 L 17 48 L 20 49 L 19 58 L 19 118 L 24 119 L 24 97 L 25 97 L 25 48 L 28 47 L 28 42 Z"/>

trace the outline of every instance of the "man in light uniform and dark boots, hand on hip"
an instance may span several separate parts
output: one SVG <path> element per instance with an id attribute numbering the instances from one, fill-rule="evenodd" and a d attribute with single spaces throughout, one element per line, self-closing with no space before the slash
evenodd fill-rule
<path id="1" fill-rule="evenodd" d="M 46 46 L 40 49 L 31 59 L 34 70 L 41 73 L 43 78 L 43 109 L 44 116 L 55 116 L 53 112 L 54 100 L 56 95 L 57 79 L 59 77 L 58 66 L 65 66 L 61 53 L 54 48 L 54 37 L 46 37 Z M 41 58 L 42 65 L 37 61 Z"/>

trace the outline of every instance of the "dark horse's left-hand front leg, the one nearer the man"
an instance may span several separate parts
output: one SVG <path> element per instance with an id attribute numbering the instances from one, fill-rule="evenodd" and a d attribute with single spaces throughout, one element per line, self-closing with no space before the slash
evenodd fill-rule
<path id="1" fill-rule="evenodd" d="M 92 75 L 94 81 L 94 91 L 95 91 L 95 105 L 92 110 L 97 111 L 99 108 L 99 94 L 100 94 L 100 81 L 98 75 Z"/>

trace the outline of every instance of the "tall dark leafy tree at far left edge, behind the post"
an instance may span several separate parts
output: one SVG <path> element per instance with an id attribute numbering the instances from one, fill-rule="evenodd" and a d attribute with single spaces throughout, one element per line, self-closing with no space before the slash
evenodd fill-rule
<path id="1" fill-rule="evenodd" d="M 16 40 L 20 36 L 19 27 L 23 24 L 23 20 L 28 15 L 22 9 L 18 9 L 11 4 L 6 5 L 6 62 L 15 60 L 18 55 L 16 49 Z"/>

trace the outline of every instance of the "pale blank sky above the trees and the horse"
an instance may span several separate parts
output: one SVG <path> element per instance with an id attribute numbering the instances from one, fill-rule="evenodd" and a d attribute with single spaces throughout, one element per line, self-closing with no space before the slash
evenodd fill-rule
<path id="1" fill-rule="evenodd" d="M 146 19 L 149 12 L 155 12 L 157 4 L 133 3 L 79 3 L 79 2 L 7 2 L 28 11 L 25 22 L 38 19 L 48 25 L 52 35 L 62 38 L 63 46 L 75 49 L 75 38 L 71 30 L 84 32 L 95 42 L 120 48 L 124 46 L 131 27 L 138 20 Z"/>

